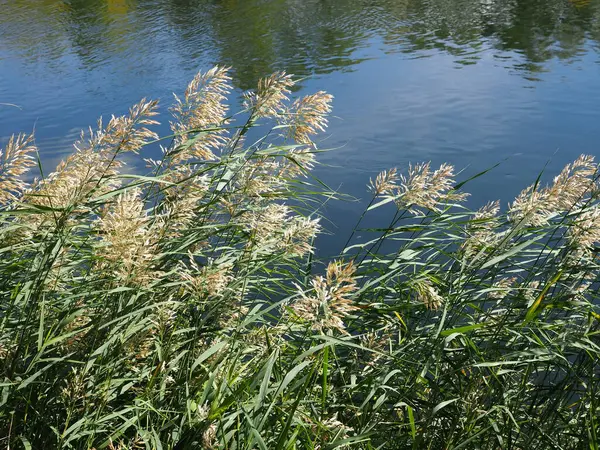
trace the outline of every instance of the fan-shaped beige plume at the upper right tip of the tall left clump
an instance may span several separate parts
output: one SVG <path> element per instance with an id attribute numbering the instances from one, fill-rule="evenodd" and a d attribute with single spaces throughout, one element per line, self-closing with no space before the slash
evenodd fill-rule
<path id="1" fill-rule="evenodd" d="M 310 136 L 327 128 L 332 100 L 333 96 L 324 91 L 296 100 L 282 117 L 282 122 L 288 126 L 289 137 L 299 144 L 312 145 Z"/>

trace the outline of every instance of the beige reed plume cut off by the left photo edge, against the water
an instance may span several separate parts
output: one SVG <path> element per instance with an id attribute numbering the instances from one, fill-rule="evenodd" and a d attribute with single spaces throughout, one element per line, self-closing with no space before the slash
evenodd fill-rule
<path id="1" fill-rule="evenodd" d="M 21 178 L 35 165 L 33 134 L 12 135 L 4 151 L 0 149 L 0 205 L 16 200 L 27 188 Z"/>

